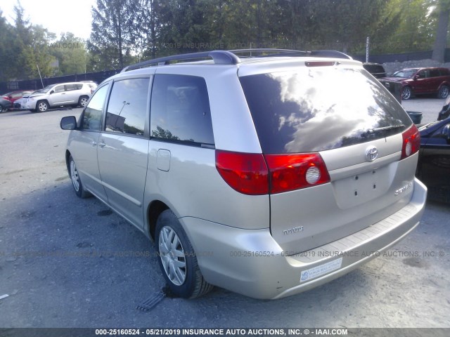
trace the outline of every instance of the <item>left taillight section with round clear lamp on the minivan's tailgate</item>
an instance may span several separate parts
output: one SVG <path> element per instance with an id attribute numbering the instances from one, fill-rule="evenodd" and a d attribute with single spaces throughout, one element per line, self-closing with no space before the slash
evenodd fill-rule
<path id="1" fill-rule="evenodd" d="M 266 154 L 270 193 L 281 193 L 330 182 L 319 153 Z"/>

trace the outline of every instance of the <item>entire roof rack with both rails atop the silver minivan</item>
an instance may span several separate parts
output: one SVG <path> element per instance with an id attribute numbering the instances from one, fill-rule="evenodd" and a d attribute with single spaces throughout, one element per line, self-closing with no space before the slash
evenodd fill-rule
<path id="1" fill-rule="evenodd" d="M 212 58 L 217 65 L 237 65 L 240 62 L 238 54 L 247 53 L 248 56 L 240 56 L 240 58 L 265 58 L 265 57 L 278 57 L 278 56 L 313 56 L 316 58 L 346 58 L 352 60 L 352 58 L 340 51 L 294 51 L 291 49 L 275 49 L 275 48 L 255 48 L 255 49 L 236 49 L 232 51 L 202 51 L 199 53 L 188 53 L 180 55 L 167 56 L 165 58 L 155 58 L 154 60 L 148 60 L 136 63 L 135 65 L 129 65 L 124 67 L 122 72 L 129 70 L 139 69 L 142 67 L 151 67 L 153 65 L 169 65 L 170 62 L 175 61 L 192 61 L 200 59 Z M 254 54 L 257 55 L 254 55 Z"/>

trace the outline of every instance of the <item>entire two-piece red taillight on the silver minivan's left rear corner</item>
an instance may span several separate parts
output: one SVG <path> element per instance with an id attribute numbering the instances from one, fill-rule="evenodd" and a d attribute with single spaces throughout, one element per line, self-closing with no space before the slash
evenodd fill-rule
<path id="1" fill-rule="evenodd" d="M 275 194 L 330 182 L 319 153 L 252 154 L 216 151 L 216 167 L 234 190 Z"/>

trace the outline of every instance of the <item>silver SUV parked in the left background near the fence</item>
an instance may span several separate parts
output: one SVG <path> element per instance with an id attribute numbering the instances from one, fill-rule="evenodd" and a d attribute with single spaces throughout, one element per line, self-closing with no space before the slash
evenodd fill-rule
<path id="1" fill-rule="evenodd" d="M 87 82 L 51 84 L 25 96 L 20 109 L 46 112 L 50 107 L 67 105 L 85 107 L 92 91 L 91 84 Z"/>

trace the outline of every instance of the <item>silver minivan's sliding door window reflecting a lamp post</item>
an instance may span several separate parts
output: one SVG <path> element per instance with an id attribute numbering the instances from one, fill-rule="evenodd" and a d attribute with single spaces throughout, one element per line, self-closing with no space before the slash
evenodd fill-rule
<path id="1" fill-rule="evenodd" d="M 116 81 L 106 113 L 105 131 L 143 136 L 148 114 L 150 79 Z"/>

